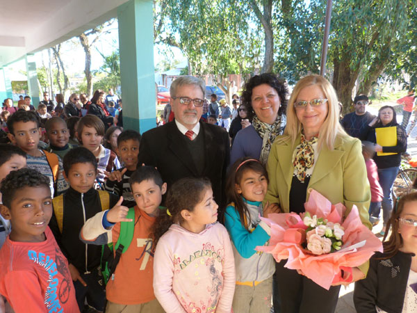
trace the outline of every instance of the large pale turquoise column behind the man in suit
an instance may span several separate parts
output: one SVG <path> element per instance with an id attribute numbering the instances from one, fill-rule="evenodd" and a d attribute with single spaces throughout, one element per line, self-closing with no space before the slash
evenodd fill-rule
<path id="1" fill-rule="evenodd" d="M 154 12 L 152 0 L 129 0 L 117 8 L 123 126 L 142 134 L 156 127 Z"/>

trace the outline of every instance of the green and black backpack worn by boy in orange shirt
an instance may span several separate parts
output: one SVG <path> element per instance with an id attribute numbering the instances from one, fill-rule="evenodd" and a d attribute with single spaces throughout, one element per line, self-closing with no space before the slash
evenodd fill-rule
<path id="1" fill-rule="evenodd" d="M 101 274 L 104 278 L 104 284 L 108 280 L 113 279 L 117 264 L 120 257 L 129 248 L 133 240 L 133 232 L 135 230 L 135 209 L 130 208 L 126 218 L 130 218 L 131 222 L 120 222 L 120 234 L 115 246 L 113 242 L 103 245 L 101 249 Z"/>

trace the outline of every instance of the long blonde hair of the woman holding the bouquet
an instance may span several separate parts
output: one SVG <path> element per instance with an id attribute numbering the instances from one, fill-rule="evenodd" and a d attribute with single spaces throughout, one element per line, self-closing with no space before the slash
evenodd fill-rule
<path id="1" fill-rule="evenodd" d="M 291 139 L 293 144 L 295 143 L 297 136 L 301 132 L 302 125 L 295 113 L 294 103 L 297 100 L 297 97 L 302 89 L 314 85 L 320 87 L 322 92 L 325 94 L 328 108 L 327 116 L 322 124 L 322 127 L 320 127 L 320 131 L 318 134 L 318 148 L 321 149 L 323 145 L 326 145 L 329 150 L 333 150 L 334 140 L 336 139 L 336 136 L 348 135 L 339 123 L 339 108 L 336 91 L 334 90 L 332 84 L 329 83 L 329 81 L 327 81 L 327 79 L 316 74 L 303 77 L 295 85 L 293 93 L 291 93 L 291 97 L 288 101 L 288 106 L 286 110 L 287 122 L 283 139 Z"/>

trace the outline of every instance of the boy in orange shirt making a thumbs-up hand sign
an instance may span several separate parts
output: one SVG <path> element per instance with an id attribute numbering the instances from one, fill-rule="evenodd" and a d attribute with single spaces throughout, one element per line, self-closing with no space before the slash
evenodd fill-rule
<path id="1" fill-rule="evenodd" d="M 108 280 L 106 313 L 121 312 L 129 307 L 131 312 L 164 312 L 154 296 L 154 243 L 152 225 L 158 216 L 167 185 L 151 166 L 141 166 L 133 172 L 129 182 L 136 201 L 134 220 L 126 218 L 129 208 L 118 205 L 100 212 L 85 222 L 81 239 L 96 245 L 117 243 L 121 222 L 134 223 L 133 239 L 122 253 L 114 275 Z M 138 257 L 139 256 L 139 257 Z M 130 312 L 130 311 L 129 311 Z"/>

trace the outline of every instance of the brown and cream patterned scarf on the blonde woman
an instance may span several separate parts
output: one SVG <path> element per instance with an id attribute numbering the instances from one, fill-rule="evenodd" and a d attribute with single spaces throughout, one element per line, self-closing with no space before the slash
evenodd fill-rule
<path id="1" fill-rule="evenodd" d="M 301 143 L 295 147 L 295 158 L 293 166 L 297 170 L 297 178 L 304 183 L 306 179 L 306 170 L 314 164 L 313 144 L 317 143 L 318 137 L 314 136 L 309 141 L 301 134 Z"/>

